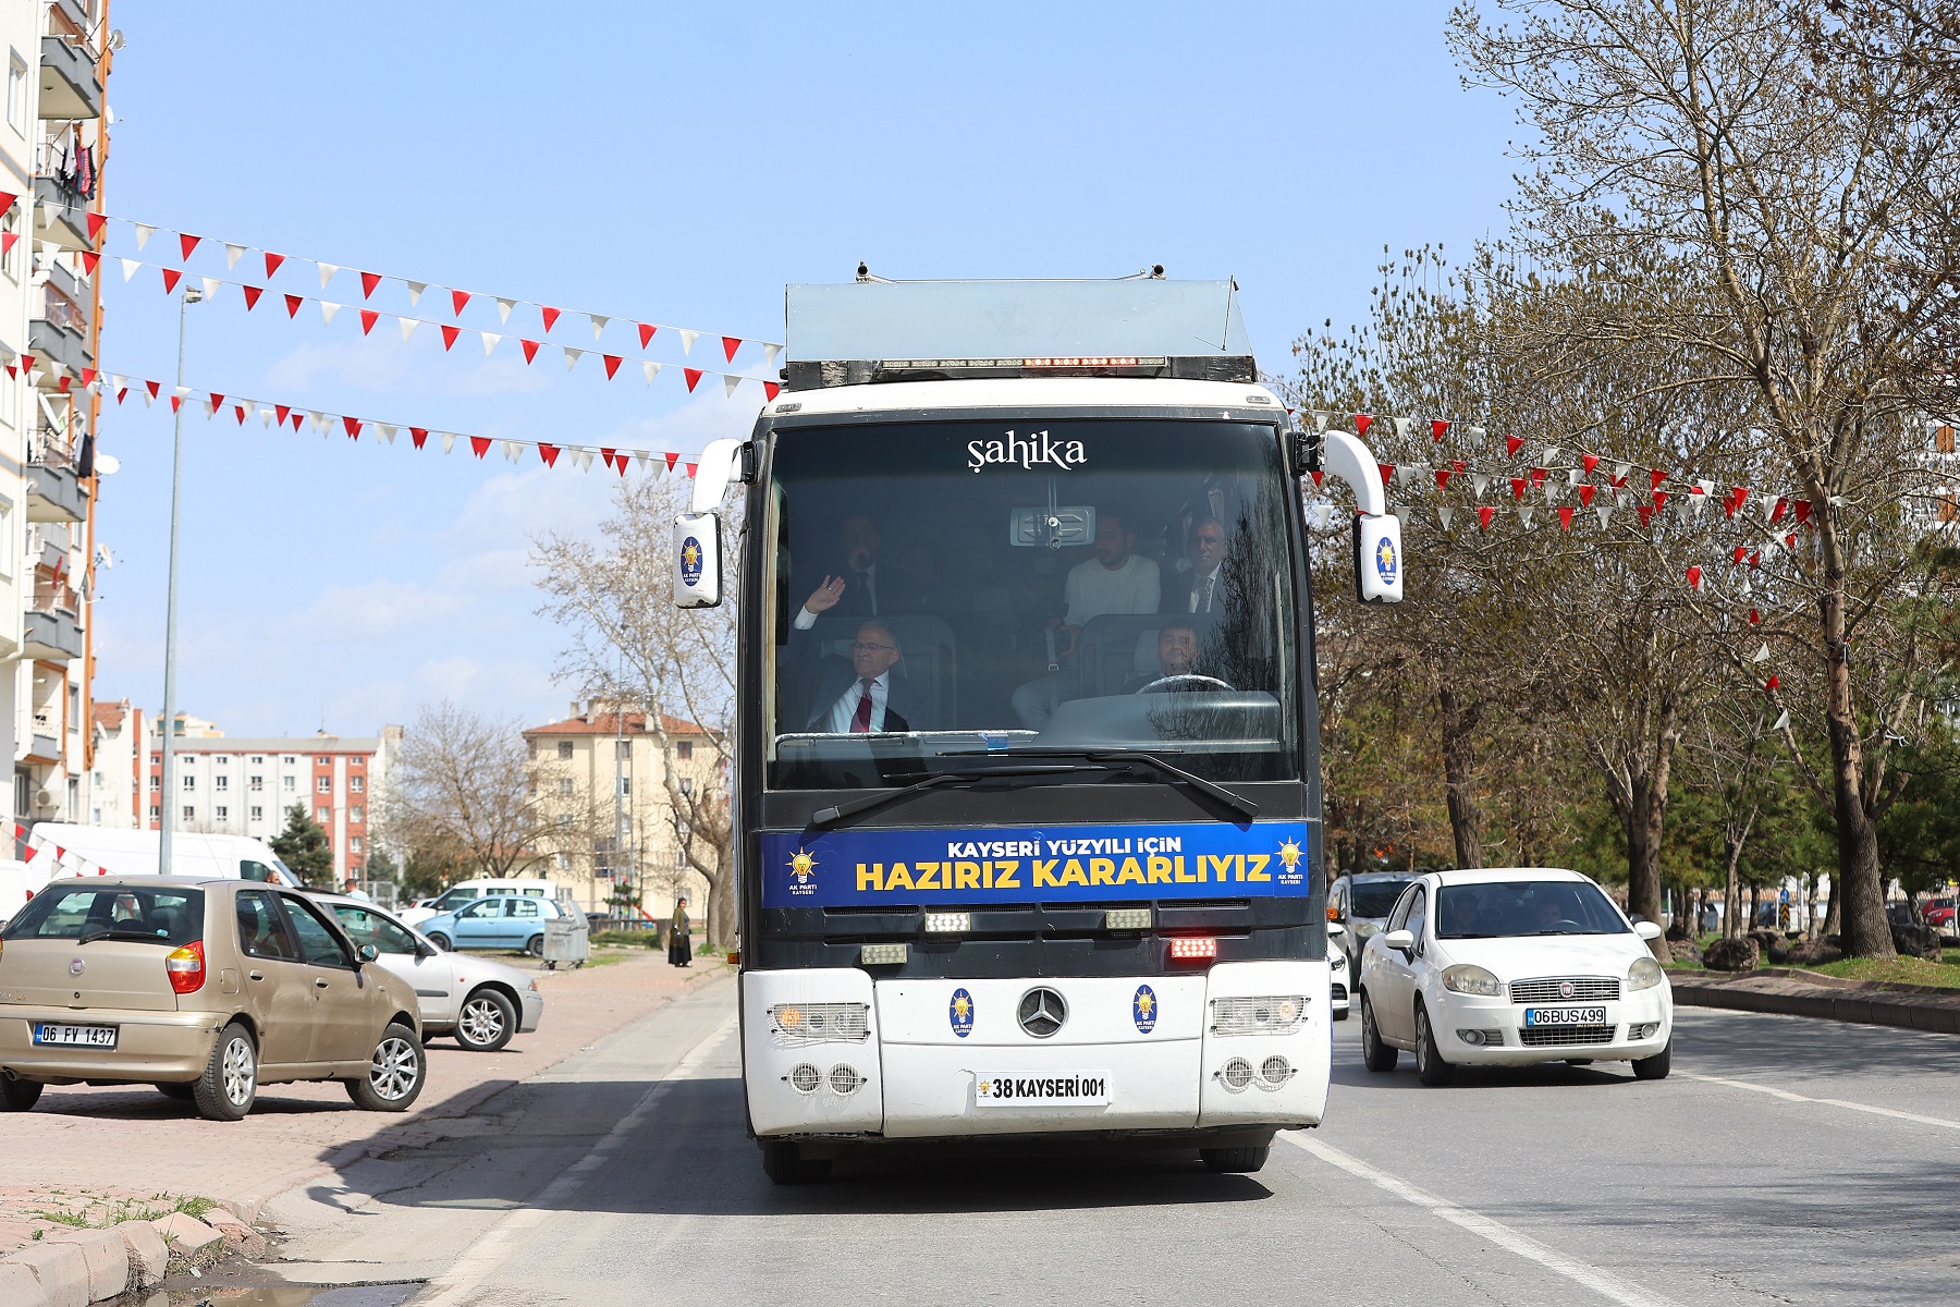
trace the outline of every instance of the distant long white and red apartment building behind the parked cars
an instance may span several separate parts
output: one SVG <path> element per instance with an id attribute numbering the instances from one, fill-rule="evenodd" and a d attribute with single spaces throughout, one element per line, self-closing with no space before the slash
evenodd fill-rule
<path id="1" fill-rule="evenodd" d="M 178 713 L 176 727 L 176 778 L 169 796 L 163 794 L 163 737 L 155 725 L 147 737 L 145 829 L 163 825 L 169 801 L 174 831 L 269 841 L 286 829 L 286 809 L 298 803 L 327 833 L 333 880 L 367 884 L 374 817 L 402 750 L 402 727 L 359 737 L 325 731 L 296 739 L 227 737 L 188 713 Z"/>

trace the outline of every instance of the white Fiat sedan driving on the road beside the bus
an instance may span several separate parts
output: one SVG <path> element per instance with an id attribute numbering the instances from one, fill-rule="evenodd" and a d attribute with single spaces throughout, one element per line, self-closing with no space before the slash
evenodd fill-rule
<path id="1" fill-rule="evenodd" d="M 1658 935 L 1578 872 L 1419 876 L 1362 948 L 1362 1060 L 1388 1072 L 1409 1048 L 1427 1086 L 1531 1062 L 1633 1062 L 1662 1080 L 1674 993 L 1646 946 Z"/>

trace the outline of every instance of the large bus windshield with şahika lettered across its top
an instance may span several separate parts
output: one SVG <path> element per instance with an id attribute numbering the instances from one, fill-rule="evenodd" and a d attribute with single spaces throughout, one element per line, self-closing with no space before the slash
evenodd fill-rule
<path id="1" fill-rule="evenodd" d="M 792 427 L 770 466 L 770 786 L 900 786 L 1015 749 L 1299 778 L 1274 425 Z"/>

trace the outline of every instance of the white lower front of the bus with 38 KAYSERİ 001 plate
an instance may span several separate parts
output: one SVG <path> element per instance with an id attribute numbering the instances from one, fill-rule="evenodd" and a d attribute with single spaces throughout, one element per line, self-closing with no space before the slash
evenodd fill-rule
<path id="1" fill-rule="evenodd" d="M 1047 1037 L 1019 1019 L 1037 988 L 1064 1007 L 1060 1029 Z M 1296 1015 L 1274 1019 L 1288 999 Z M 888 1138 L 1319 1125 L 1333 1029 L 1327 999 L 1327 962 L 1039 980 L 749 972 L 749 1115 L 757 1135 Z M 862 1039 L 784 1035 L 770 1013 L 782 1003 L 858 1003 Z M 1235 1019 L 1221 1015 L 1227 1009 Z M 837 1066 L 849 1074 L 833 1076 Z M 853 1084 L 847 1093 L 837 1088 Z"/>

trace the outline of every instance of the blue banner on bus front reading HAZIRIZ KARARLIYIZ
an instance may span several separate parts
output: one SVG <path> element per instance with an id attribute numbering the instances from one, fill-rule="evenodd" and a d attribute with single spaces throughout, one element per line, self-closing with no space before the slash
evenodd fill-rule
<path id="1" fill-rule="evenodd" d="M 1307 823 L 762 833 L 762 907 L 1305 896 Z"/>

